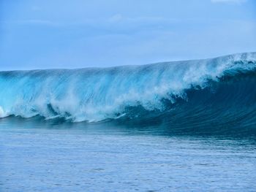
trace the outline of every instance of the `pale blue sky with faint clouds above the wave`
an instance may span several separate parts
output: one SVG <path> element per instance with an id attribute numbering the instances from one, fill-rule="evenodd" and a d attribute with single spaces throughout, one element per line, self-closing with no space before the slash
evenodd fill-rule
<path id="1" fill-rule="evenodd" d="M 252 51 L 255 0 L 0 0 L 0 71 Z"/>

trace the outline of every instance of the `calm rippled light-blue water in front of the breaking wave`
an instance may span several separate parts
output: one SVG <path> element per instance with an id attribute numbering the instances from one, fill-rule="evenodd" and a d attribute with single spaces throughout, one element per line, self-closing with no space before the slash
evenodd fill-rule
<path id="1" fill-rule="evenodd" d="M 6 118 L 0 191 L 256 191 L 256 140 Z"/>

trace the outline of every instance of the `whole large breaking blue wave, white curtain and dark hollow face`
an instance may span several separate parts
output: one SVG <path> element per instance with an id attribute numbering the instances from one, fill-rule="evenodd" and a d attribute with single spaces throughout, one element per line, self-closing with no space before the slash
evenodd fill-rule
<path id="1" fill-rule="evenodd" d="M 105 69 L 0 72 L 0 117 L 255 126 L 255 85 L 256 53 Z"/>

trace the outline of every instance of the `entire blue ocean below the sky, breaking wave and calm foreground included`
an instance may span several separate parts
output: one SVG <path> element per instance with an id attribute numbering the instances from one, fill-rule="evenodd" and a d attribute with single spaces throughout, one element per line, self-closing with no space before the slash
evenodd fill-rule
<path id="1" fill-rule="evenodd" d="M 256 191 L 256 53 L 0 72 L 0 191 Z"/>

